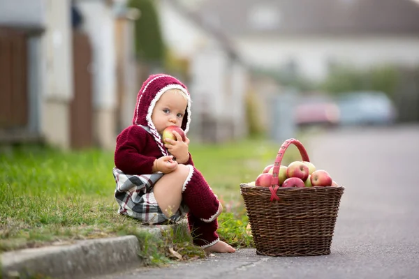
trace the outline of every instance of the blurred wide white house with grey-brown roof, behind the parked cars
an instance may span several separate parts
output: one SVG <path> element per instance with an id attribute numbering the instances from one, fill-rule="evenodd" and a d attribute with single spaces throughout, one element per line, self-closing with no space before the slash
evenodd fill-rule
<path id="1" fill-rule="evenodd" d="M 316 80 L 330 63 L 419 63 L 413 0 L 203 0 L 193 8 L 254 66 L 293 67 Z"/>

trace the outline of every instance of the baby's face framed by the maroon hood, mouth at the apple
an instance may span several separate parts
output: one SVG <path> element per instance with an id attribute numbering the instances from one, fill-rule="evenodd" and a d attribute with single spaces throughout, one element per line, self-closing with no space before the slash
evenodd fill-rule
<path id="1" fill-rule="evenodd" d="M 182 91 L 171 89 L 163 93 L 152 112 L 152 121 L 159 134 L 168 126 L 182 126 L 187 105 Z"/>

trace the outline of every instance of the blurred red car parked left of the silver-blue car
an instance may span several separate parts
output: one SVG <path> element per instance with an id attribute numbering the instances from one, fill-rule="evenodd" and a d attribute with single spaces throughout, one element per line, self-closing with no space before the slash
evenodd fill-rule
<path id="1" fill-rule="evenodd" d="M 340 113 L 332 98 L 309 96 L 300 98 L 294 116 L 298 126 L 336 126 Z"/>

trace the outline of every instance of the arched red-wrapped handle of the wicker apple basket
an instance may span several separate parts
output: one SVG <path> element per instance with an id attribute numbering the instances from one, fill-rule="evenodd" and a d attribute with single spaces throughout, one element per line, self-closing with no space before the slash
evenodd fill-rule
<path id="1" fill-rule="evenodd" d="M 281 166 L 282 158 L 284 158 L 284 153 L 286 149 L 288 149 L 288 146 L 290 146 L 290 144 L 294 144 L 295 146 L 297 146 L 297 149 L 298 151 L 300 151 L 300 155 L 303 161 L 307 161 L 307 162 L 310 161 L 309 154 L 307 154 L 307 151 L 305 150 L 304 146 L 297 139 L 293 139 L 293 138 L 288 139 L 281 145 L 281 147 L 279 147 L 277 158 L 275 159 L 275 163 L 274 163 L 274 170 L 272 172 L 272 181 L 271 181 L 271 186 L 270 186 L 270 192 L 272 193 L 271 201 L 273 199 L 279 200 L 279 197 L 277 197 L 277 194 L 276 194 L 277 189 L 279 187 L 278 186 L 279 167 Z"/>

